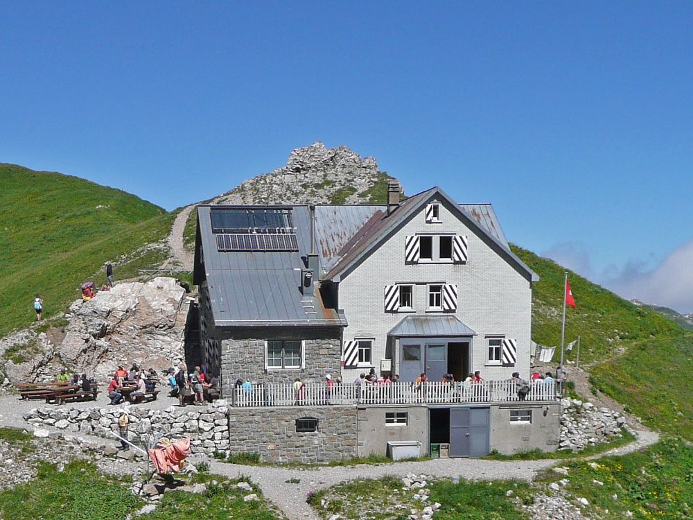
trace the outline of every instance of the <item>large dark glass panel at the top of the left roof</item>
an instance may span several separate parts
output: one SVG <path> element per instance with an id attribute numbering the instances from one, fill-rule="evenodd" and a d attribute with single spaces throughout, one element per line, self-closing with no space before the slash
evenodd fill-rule
<path id="1" fill-rule="evenodd" d="M 211 209 L 213 233 L 292 232 L 290 209 Z"/>

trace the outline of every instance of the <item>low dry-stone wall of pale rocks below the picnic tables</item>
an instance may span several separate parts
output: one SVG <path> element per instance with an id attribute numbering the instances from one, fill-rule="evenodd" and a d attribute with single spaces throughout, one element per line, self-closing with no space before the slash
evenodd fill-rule
<path id="1" fill-rule="evenodd" d="M 138 444 L 140 433 L 170 433 L 171 437 L 191 437 L 193 453 L 212 454 L 229 449 L 229 410 L 225 401 L 207 406 L 148 410 L 134 406 L 111 408 L 34 408 L 24 420 L 36 425 L 53 426 L 64 431 L 98 435 L 116 440 L 109 431 L 118 433 L 122 410 L 130 418 L 130 441 Z"/>

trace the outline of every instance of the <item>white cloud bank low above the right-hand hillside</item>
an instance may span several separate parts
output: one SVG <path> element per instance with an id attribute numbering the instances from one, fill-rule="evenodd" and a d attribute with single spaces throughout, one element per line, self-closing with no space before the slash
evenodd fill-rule
<path id="1" fill-rule="evenodd" d="M 595 271 L 581 242 L 559 243 L 541 254 L 629 300 L 693 312 L 693 241 L 668 254 L 658 266 L 651 267 L 651 259 L 638 259 L 603 272 Z"/>

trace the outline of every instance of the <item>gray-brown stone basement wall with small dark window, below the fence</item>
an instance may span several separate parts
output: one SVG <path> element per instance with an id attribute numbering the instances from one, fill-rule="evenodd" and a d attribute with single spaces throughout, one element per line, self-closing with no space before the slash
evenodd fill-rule
<path id="1" fill-rule="evenodd" d="M 318 431 L 297 433 L 296 419 L 315 417 Z M 266 462 L 327 462 L 356 456 L 354 406 L 229 408 L 229 450 Z"/>

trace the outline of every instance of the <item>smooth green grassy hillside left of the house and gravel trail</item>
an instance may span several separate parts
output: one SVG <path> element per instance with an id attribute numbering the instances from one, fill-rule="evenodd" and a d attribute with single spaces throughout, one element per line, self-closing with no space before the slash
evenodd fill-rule
<path id="1" fill-rule="evenodd" d="M 150 202 L 12 164 L 0 164 L 0 185 L 0 335 L 35 320 L 36 293 L 47 318 L 79 297 L 82 281 L 103 283 L 105 261 L 116 262 L 122 279 L 164 257 L 161 250 L 137 252 L 170 229 L 170 215 Z"/>

